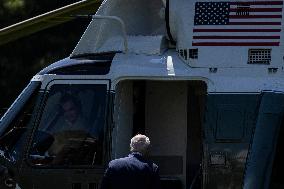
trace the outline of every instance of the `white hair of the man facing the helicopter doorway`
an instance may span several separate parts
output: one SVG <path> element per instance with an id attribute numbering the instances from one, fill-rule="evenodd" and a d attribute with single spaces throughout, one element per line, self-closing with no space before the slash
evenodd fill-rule
<path id="1" fill-rule="evenodd" d="M 150 139 L 141 134 L 135 135 L 130 142 L 131 152 L 140 152 L 145 155 L 150 147 Z"/>

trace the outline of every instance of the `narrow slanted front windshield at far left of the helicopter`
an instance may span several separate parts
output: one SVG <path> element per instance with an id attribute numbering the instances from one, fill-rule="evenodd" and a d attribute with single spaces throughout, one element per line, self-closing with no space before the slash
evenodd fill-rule
<path id="1" fill-rule="evenodd" d="M 11 161 L 19 158 L 32 112 L 36 102 L 40 100 L 40 95 L 38 95 L 39 84 L 35 82 L 28 85 L 2 118 L 3 125 L 7 122 L 10 123 L 6 124 L 7 127 L 2 127 L 0 154 Z"/>

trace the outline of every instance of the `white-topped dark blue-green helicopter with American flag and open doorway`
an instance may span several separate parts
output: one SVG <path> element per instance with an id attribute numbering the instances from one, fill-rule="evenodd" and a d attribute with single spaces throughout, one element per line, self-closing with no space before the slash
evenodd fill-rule
<path id="1" fill-rule="evenodd" d="M 283 188 L 283 1 L 91 2 L 71 55 L 1 118 L 0 184 L 97 189 L 142 133 L 162 188 Z"/>

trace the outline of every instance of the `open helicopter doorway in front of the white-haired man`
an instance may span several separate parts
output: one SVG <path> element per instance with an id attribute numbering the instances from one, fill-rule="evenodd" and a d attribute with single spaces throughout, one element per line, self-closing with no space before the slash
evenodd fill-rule
<path id="1" fill-rule="evenodd" d="M 130 138 L 149 136 L 163 188 L 201 188 L 202 81 L 126 80 L 116 86 L 113 158 L 129 153 Z M 194 183 L 193 183 L 194 182 Z"/>

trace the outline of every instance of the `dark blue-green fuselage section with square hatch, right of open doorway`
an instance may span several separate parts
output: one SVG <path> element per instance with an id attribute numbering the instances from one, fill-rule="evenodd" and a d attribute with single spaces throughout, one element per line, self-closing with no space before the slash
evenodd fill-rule
<path id="1" fill-rule="evenodd" d="M 259 93 L 208 94 L 203 124 L 204 189 L 242 188 L 260 101 Z"/>

